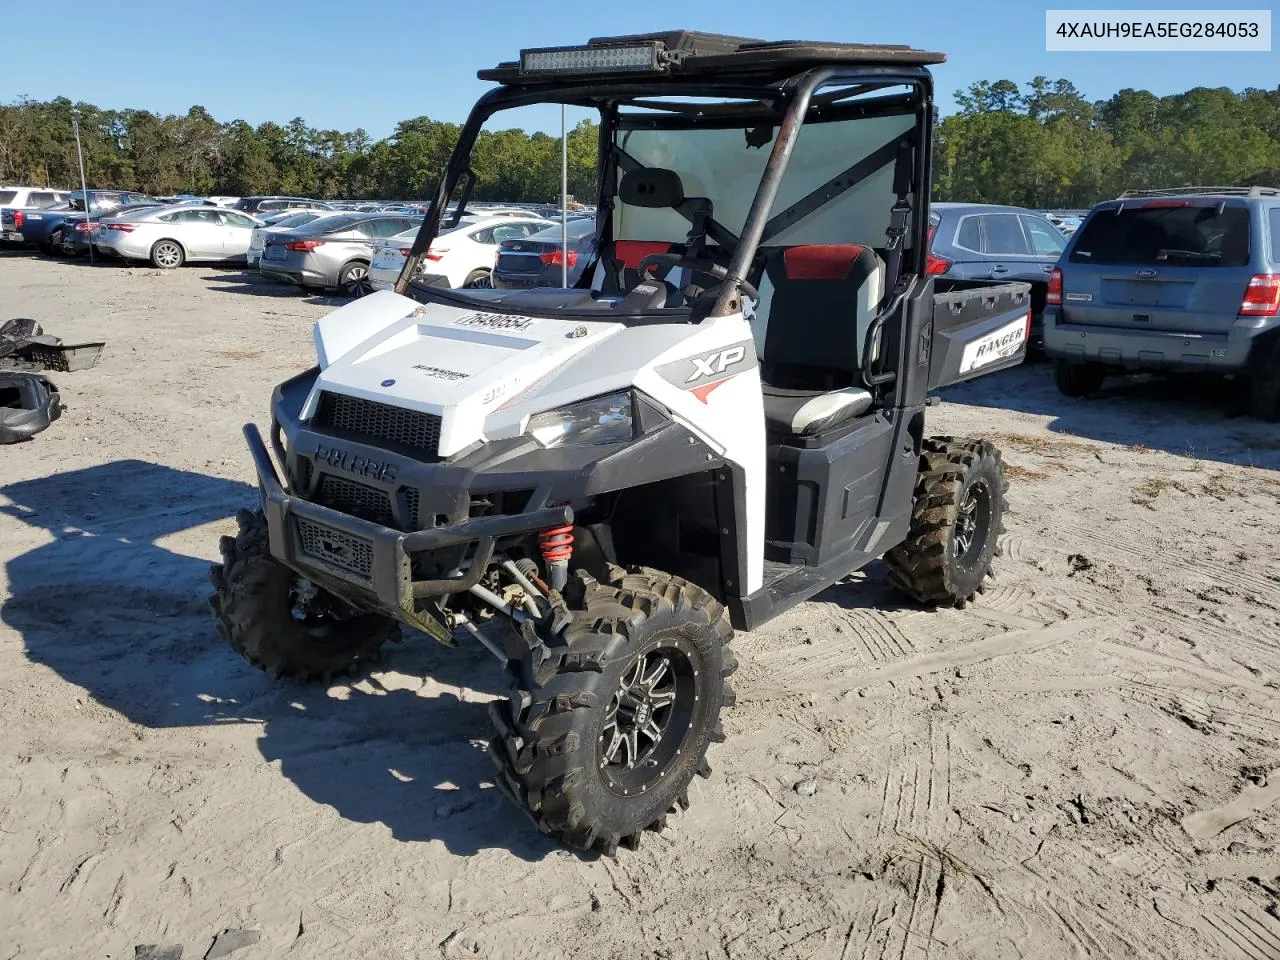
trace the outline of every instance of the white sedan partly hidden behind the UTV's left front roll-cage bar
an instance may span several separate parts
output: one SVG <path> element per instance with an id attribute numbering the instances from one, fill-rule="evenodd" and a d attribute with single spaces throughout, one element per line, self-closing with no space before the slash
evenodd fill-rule
<path id="1" fill-rule="evenodd" d="M 454 289 L 492 287 L 498 244 L 508 239 L 522 239 L 552 225 L 550 220 L 540 216 L 502 215 L 463 220 L 431 243 L 422 259 L 419 282 Z M 396 285 L 416 236 L 416 229 L 404 230 L 374 244 L 369 282 L 375 291 L 389 291 Z"/>

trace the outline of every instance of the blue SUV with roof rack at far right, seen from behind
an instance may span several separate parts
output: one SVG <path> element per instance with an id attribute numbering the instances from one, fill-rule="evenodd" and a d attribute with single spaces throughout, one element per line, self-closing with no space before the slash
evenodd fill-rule
<path id="1" fill-rule="evenodd" d="M 1098 204 L 1050 274 L 1044 352 L 1069 397 L 1112 372 L 1229 374 L 1280 419 L 1280 189 L 1140 191 Z"/>

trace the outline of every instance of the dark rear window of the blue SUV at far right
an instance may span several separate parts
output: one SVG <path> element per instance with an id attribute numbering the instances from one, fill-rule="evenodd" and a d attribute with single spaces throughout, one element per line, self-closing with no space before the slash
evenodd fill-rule
<path id="1" fill-rule="evenodd" d="M 1073 264 L 1245 266 L 1249 211 L 1219 201 L 1174 200 L 1100 210 L 1078 233 Z"/>

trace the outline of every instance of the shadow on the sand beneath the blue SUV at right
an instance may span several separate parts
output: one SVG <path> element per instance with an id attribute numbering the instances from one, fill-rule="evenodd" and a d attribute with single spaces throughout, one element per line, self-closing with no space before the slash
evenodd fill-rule
<path id="1" fill-rule="evenodd" d="M 1280 425 L 1243 416 L 1224 378 L 1129 375 L 1093 397 L 1059 393 L 1052 369 L 1023 365 L 940 392 L 945 401 L 1050 417 L 1053 433 L 1192 460 L 1280 470 Z"/>

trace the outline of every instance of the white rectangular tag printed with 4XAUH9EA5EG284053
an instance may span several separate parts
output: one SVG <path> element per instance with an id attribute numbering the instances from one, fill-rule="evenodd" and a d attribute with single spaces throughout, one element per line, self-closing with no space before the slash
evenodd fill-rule
<path id="1" fill-rule="evenodd" d="M 1046 10 L 1044 49 L 1271 50 L 1271 10 Z"/>

